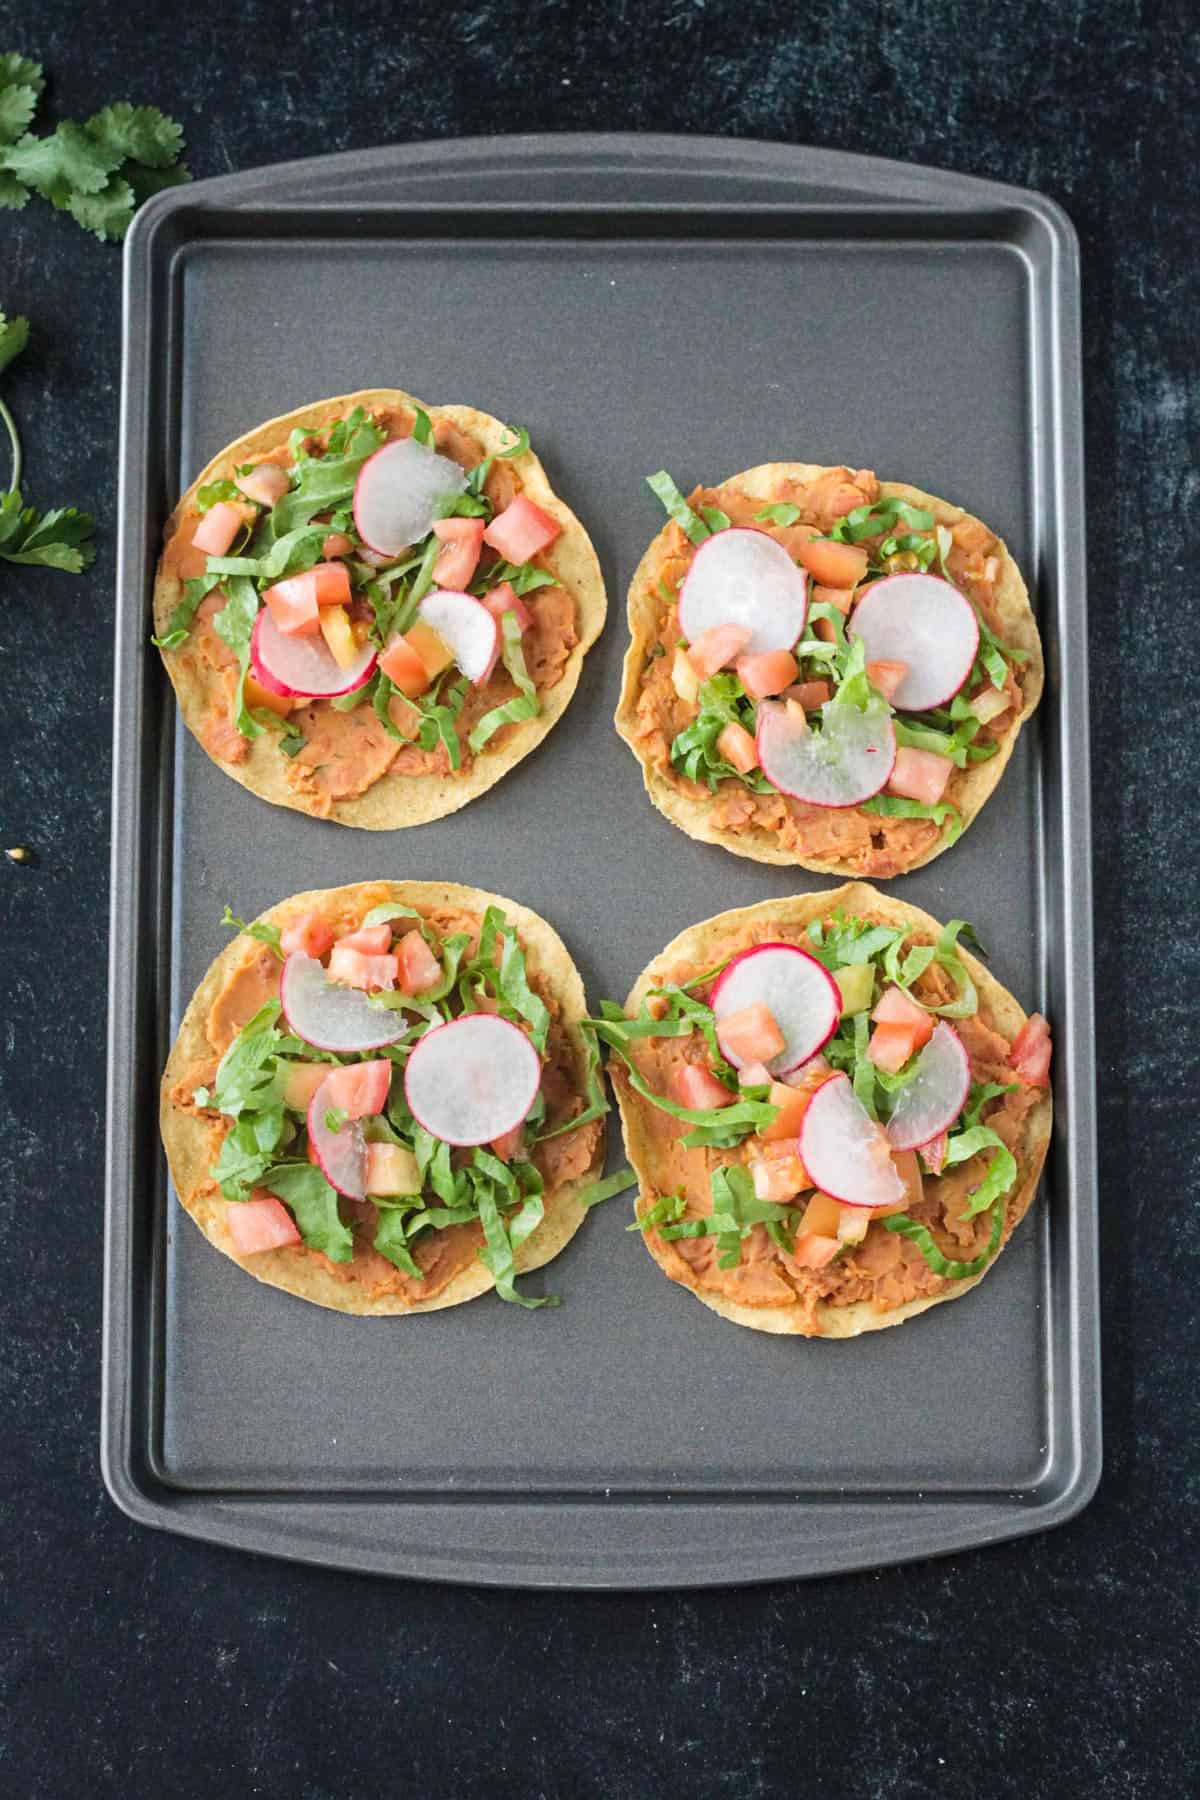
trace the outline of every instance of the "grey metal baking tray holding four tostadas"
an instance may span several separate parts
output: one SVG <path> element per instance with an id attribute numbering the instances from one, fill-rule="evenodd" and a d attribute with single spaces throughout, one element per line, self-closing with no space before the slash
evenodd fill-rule
<path id="1" fill-rule="evenodd" d="M 394 835 L 268 806 L 180 729 L 149 599 L 223 443 L 403 385 L 529 427 L 610 621 L 545 745 Z M 624 592 L 684 488 L 869 464 L 966 504 L 1036 587 L 1047 693 L 963 842 L 896 891 L 973 920 L 1056 1030 L 1042 1197 L 959 1305 L 847 1345 L 738 1330 L 667 1283 L 626 1201 L 533 1280 L 419 1319 L 248 1282 L 167 1190 L 157 1085 L 227 934 L 302 887 L 477 882 L 621 997 L 684 925 L 831 886 L 691 842 L 612 727 Z M 133 1517 L 342 1568 L 525 1586 L 817 1575 L 991 1543 L 1099 1476 L 1090 821 L 1074 232 L 1038 194 L 829 151 L 509 137 L 162 194 L 126 252 L 103 1469 Z M 1063 653 L 1067 652 L 1067 653 Z M 613 1116 L 610 1166 L 621 1161 Z"/>

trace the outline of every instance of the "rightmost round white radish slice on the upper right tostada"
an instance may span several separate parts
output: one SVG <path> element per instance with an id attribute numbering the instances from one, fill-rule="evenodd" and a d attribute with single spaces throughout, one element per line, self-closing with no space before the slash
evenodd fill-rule
<path id="1" fill-rule="evenodd" d="M 979 619 L 966 594 L 936 574 L 891 574 L 862 590 L 849 621 L 867 662 L 907 662 L 892 693 L 898 713 L 946 706 L 979 655 Z"/>

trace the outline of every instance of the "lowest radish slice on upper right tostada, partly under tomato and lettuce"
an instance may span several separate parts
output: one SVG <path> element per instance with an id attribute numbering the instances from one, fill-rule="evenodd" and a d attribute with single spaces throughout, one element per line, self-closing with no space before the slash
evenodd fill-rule
<path id="1" fill-rule="evenodd" d="M 826 700 L 820 731 L 813 731 L 799 709 L 765 700 L 754 743 L 766 779 L 810 806 L 856 806 L 878 794 L 896 767 L 896 727 L 878 702 L 860 713 Z"/>

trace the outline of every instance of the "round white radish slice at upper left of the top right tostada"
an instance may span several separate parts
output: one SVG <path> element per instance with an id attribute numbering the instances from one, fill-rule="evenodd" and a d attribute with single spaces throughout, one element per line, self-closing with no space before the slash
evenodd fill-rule
<path id="1" fill-rule="evenodd" d="M 808 617 L 808 576 L 765 531 L 730 526 L 700 545 L 680 589 L 689 643 L 714 625 L 745 625 L 745 655 L 790 650 Z"/>

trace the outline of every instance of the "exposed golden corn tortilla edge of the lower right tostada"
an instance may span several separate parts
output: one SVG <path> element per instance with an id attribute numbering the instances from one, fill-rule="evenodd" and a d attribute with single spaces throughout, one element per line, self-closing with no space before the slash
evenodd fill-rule
<path id="1" fill-rule="evenodd" d="M 624 1003 L 624 1010 L 630 1015 L 637 1013 L 646 992 L 660 983 L 667 970 L 678 968 L 682 963 L 694 965 L 696 968 L 711 968 L 714 963 L 720 963 L 725 954 L 721 945 L 729 941 L 729 936 L 747 925 L 754 925 L 757 920 L 788 923 L 804 929 L 813 920 L 829 918 L 829 914 L 838 909 L 853 914 L 855 918 L 869 918 L 878 925 L 900 925 L 925 943 L 932 943 L 941 931 L 941 923 L 928 913 L 923 913 L 919 907 L 907 905 L 903 900 L 894 900 L 891 895 L 880 893 L 869 882 L 847 882 L 844 887 L 833 887 L 828 893 L 792 895 L 783 900 L 759 900 L 757 905 L 718 913 L 716 918 L 691 925 L 687 931 L 682 931 L 678 938 L 673 938 L 671 943 L 667 943 L 653 963 L 637 977 Z M 1025 1022 L 1025 1012 L 1007 988 L 1004 988 L 975 956 L 963 949 L 959 949 L 959 956 L 968 967 L 979 990 L 979 1017 L 1011 1042 Z M 649 1102 L 633 1093 L 628 1082 L 617 1080 L 613 1082 L 613 1087 L 621 1109 L 626 1156 L 639 1177 L 635 1213 L 640 1217 L 640 1213 L 646 1211 L 646 1208 L 657 1199 L 657 1188 L 651 1175 L 653 1152 L 649 1150 L 649 1138 L 644 1129 L 644 1121 L 651 1112 L 651 1107 Z M 1033 1197 L 1038 1190 L 1042 1165 L 1045 1163 L 1045 1152 L 1051 1141 L 1051 1123 L 1052 1102 L 1047 1089 L 1031 1109 L 1022 1138 L 1013 1152 L 1016 1157 L 1016 1184 L 1006 1199 L 1004 1235 L 1000 1238 L 997 1256 L 1029 1211 Z M 642 1242 L 655 1262 L 662 1264 L 662 1258 L 655 1253 L 655 1246 L 649 1237 L 644 1237 Z M 878 1310 L 869 1300 L 856 1300 L 844 1307 L 822 1301 L 817 1307 L 817 1334 L 804 1330 L 801 1307 L 747 1307 L 738 1301 L 725 1300 L 720 1294 L 705 1292 L 698 1287 L 693 1287 L 691 1292 L 723 1319 L 732 1319 L 734 1325 L 747 1325 L 756 1332 L 774 1332 L 781 1336 L 858 1337 L 862 1332 L 878 1332 L 889 1325 L 903 1325 L 905 1319 L 912 1319 L 918 1312 L 927 1312 L 930 1307 L 937 1307 L 946 1300 L 961 1300 L 963 1294 L 975 1287 L 977 1282 L 982 1282 L 984 1276 L 995 1267 L 997 1256 L 991 1258 L 981 1274 L 973 1274 L 963 1282 L 945 1282 L 943 1292 L 909 1300 L 887 1312 Z"/>

